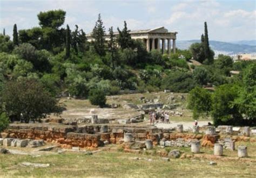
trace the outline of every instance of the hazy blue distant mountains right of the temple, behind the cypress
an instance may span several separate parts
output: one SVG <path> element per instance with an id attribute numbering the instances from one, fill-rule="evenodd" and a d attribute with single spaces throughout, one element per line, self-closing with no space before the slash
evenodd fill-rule
<path id="1" fill-rule="evenodd" d="M 194 42 L 200 42 L 200 40 L 177 40 L 176 46 L 180 49 L 188 49 Z M 215 55 L 226 54 L 234 55 L 238 53 L 256 53 L 256 45 L 244 45 L 244 44 L 233 44 L 231 42 L 222 41 L 209 41 L 210 46 L 215 52 Z"/>

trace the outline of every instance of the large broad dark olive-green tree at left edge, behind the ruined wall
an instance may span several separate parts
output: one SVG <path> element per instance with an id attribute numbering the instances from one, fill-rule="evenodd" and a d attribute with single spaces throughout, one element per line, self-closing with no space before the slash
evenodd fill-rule
<path id="1" fill-rule="evenodd" d="M 57 100 L 35 79 L 21 79 L 6 83 L 2 97 L 2 109 L 11 120 L 29 123 L 60 112 Z"/>

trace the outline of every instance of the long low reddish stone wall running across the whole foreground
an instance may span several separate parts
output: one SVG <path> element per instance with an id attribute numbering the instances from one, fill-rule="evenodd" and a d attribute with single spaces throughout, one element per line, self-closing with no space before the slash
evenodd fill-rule
<path id="1" fill-rule="evenodd" d="M 231 139 L 226 139 L 223 135 L 214 133 L 206 135 L 202 133 L 177 133 L 173 129 L 159 129 L 157 127 L 136 126 L 136 125 L 106 125 L 106 124 L 87 124 L 87 125 L 65 125 L 65 124 L 10 124 L 9 128 L 1 133 L 2 138 L 19 139 L 43 139 L 48 142 L 61 144 L 63 147 L 72 148 L 86 147 L 97 148 L 103 145 L 104 141 L 112 144 L 123 144 L 124 134 L 131 133 L 132 141 L 140 143 L 150 139 L 153 145 L 163 144 L 161 141 L 167 141 L 167 145 L 189 146 L 191 140 L 200 140 L 201 146 L 214 146 L 214 143 L 224 143 L 231 147 Z M 233 141 L 256 141 L 255 137 L 230 136 Z M 183 144 L 180 144 L 183 143 Z M 230 146 L 231 145 L 231 146 Z M 125 146 L 136 147 L 134 145 Z"/>

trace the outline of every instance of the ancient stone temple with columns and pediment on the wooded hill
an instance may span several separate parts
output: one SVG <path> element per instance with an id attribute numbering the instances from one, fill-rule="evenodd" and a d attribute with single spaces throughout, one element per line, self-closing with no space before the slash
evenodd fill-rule
<path id="1" fill-rule="evenodd" d="M 156 29 L 150 30 L 135 30 L 130 31 L 132 39 L 143 40 L 147 51 L 150 52 L 152 49 L 157 49 L 163 54 L 167 50 L 167 53 L 176 53 L 176 34 L 178 32 L 168 32 L 165 27 L 161 26 Z M 115 32 L 114 35 L 118 35 L 118 32 Z M 86 35 L 88 41 L 92 41 L 92 33 Z M 109 34 L 105 35 L 105 39 L 109 40 Z M 172 42 L 172 48 L 171 48 Z"/>

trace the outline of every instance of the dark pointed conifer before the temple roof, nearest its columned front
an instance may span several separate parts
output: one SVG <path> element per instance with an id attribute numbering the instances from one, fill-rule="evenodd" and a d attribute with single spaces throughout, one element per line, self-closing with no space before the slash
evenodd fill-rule
<path id="1" fill-rule="evenodd" d="M 121 31 L 117 28 L 119 35 L 117 42 L 122 49 L 133 47 L 133 40 L 131 38 L 130 30 L 127 29 L 127 24 L 124 21 L 124 29 Z"/>

